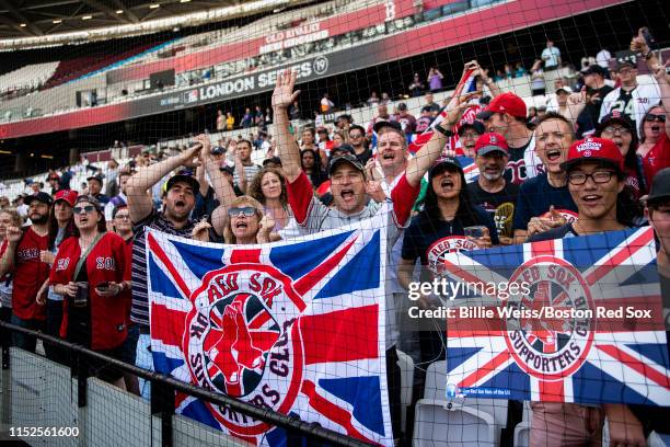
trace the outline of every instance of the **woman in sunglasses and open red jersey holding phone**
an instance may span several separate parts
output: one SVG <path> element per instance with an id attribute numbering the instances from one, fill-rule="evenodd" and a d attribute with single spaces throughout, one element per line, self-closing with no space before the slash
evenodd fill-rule
<path id="1" fill-rule="evenodd" d="M 60 336 L 105 355 L 122 358 L 127 336 L 130 259 L 126 242 L 107 232 L 100 202 L 79 196 L 72 208 L 74 236 L 65 240 L 49 276 L 65 297 Z M 120 370 L 92 360 L 92 374 L 125 388 Z"/>

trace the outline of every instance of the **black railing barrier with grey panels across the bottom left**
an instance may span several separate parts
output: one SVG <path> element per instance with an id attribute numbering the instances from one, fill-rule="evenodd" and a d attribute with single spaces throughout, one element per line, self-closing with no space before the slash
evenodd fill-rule
<path id="1" fill-rule="evenodd" d="M 261 409 L 174 378 L 13 324 L 0 322 L 5 334 L 33 335 L 65 349 L 71 367 L 16 347 L 2 347 L 0 444 L 23 440 L 31 446 L 247 446 L 236 438 L 175 414 L 175 392 L 226 406 L 240 417 L 253 417 L 284 428 L 290 446 L 368 444 L 308 423 L 296 416 Z M 89 377 L 88 360 L 108 362 L 152 382 L 150 402 L 97 378 Z"/>

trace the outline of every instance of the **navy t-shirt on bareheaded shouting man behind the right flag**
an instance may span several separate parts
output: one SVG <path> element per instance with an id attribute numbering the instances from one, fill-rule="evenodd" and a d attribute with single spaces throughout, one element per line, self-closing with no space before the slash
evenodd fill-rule
<path id="1" fill-rule="evenodd" d="M 567 185 L 561 187 L 550 185 L 546 173 L 527 180 L 521 184 L 517 197 L 513 229 L 525 231 L 530 219 L 544 215 L 552 205 L 568 221 L 577 218 L 577 205 Z"/>

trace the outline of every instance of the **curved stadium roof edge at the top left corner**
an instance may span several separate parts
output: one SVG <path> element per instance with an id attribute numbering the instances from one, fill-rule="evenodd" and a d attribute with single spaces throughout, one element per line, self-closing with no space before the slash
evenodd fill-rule
<path id="1" fill-rule="evenodd" d="M 304 0 L 0 0 L 0 42 L 15 47 L 62 44 L 58 36 L 109 30 L 107 38 L 170 30 L 186 14 L 204 13 L 196 25 L 300 3 Z M 187 16 L 187 15 L 186 15 Z M 151 24 L 150 30 L 147 27 Z M 114 30 L 117 28 L 118 32 Z M 136 31 L 132 31 L 136 28 Z M 96 38 L 103 38 L 96 33 Z M 90 36 L 90 38 L 93 36 Z M 67 38 L 67 37 L 66 37 Z M 77 37 L 74 38 L 77 41 Z M 4 45 L 3 45 L 4 46 Z"/>

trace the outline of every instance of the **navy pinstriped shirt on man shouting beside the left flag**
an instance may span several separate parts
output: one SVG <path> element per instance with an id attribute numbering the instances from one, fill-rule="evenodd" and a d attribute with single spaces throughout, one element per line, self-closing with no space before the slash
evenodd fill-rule
<path id="1" fill-rule="evenodd" d="M 149 216 L 132 225 L 135 242 L 132 244 L 132 306 L 130 307 L 130 320 L 134 323 L 149 325 L 149 297 L 147 295 L 147 228 L 163 231 L 169 234 L 190 238 L 196 221 L 188 220 L 182 229 L 165 218 L 155 209 Z"/>

